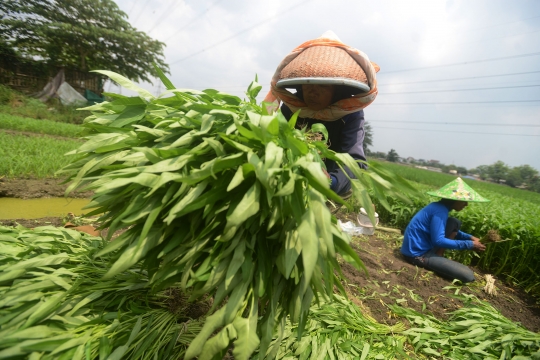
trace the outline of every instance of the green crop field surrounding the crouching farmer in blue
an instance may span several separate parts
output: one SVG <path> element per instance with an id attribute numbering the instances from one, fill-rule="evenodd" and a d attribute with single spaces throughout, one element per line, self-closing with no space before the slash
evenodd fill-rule
<path id="1" fill-rule="evenodd" d="M 413 167 L 387 164 L 396 173 L 413 181 L 422 192 L 432 190 L 450 182 L 455 176 L 435 173 Z M 463 230 L 478 237 L 485 236 L 489 230 L 496 230 L 502 241 L 487 245 L 487 250 L 477 258 L 473 252 L 454 252 L 454 258 L 465 264 L 472 261 L 493 272 L 506 277 L 523 287 L 527 292 L 540 297 L 540 196 L 537 193 L 513 189 L 507 186 L 479 182 L 467 183 L 489 203 L 471 204 L 453 216 L 463 222 Z M 425 195 L 406 204 L 392 199 L 392 209 L 387 211 L 379 206 L 383 221 L 405 229 L 414 214 L 436 198 Z"/>

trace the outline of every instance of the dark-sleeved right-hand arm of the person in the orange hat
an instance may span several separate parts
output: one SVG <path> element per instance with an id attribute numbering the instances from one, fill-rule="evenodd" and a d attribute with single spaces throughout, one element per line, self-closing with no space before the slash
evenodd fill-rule
<path id="1" fill-rule="evenodd" d="M 343 127 L 341 129 L 340 146 L 339 148 L 332 147 L 332 150 L 339 153 L 348 153 L 355 160 L 366 161 L 364 155 L 364 111 L 360 110 L 356 113 L 349 114 L 344 117 Z M 366 168 L 365 164 L 359 164 L 360 167 Z M 349 168 L 345 168 L 347 175 L 351 178 L 356 178 Z M 351 188 L 351 182 L 347 178 L 347 175 L 338 166 L 332 166 L 329 169 L 331 184 L 330 188 L 337 194 L 343 194 Z"/>

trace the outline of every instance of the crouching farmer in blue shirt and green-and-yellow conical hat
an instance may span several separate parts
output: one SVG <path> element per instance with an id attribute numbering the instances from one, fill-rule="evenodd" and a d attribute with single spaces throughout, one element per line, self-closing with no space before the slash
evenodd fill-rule
<path id="1" fill-rule="evenodd" d="M 411 264 L 433 270 L 443 277 L 462 282 L 474 281 L 473 271 L 445 258 L 444 250 L 484 251 L 486 247 L 477 237 L 460 231 L 461 222 L 449 218 L 448 213 L 451 210 L 463 210 L 469 202 L 489 200 L 480 196 L 459 177 L 428 194 L 442 199 L 427 205 L 413 217 L 405 229 L 401 253 Z"/>

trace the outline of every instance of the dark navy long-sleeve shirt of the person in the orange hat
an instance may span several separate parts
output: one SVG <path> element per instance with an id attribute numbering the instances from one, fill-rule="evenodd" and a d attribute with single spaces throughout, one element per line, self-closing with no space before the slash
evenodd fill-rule
<path id="1" fill-rule="evenodd" d="M 283 104 L 281 106 L 283 115 L 290 119 L 292 111 Z M 321 121 L 311 118 L 298 117 L 296 125 L 299 128 L 311 127 L 313 124 L 323 124 L 328 130 L 328 147 L 338 153 L 348 153 L 355 160 L 366 161 L 364 155 L 364 110 L 346 115 L 335 121 Z M 326 170 L 332 179 L 330 188 L 337 194 L 344 194 L 351 189 L 351 182 L 339 166 L 332 160 L 325 160 Z M 361 167 L 362 166 L 360 165 Z M 352 179 L 356 178 L 349 168 L 345 171 Z"/>

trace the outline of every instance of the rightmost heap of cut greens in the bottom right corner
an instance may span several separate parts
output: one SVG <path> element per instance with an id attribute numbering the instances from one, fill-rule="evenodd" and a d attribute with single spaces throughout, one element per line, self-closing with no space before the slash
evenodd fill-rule
<path id="1" fill-rule="evenodd" d="M 407 318 L 404 331 L 414 352 L 437 359 L 536 359 L 540 356 L 540 335 L 502 316 L 489 303 L 473 295 L 460 295 L 466 305 L 448 321 L 418 313 L 399 305 L 391 306 L 397 316 Z"/>

